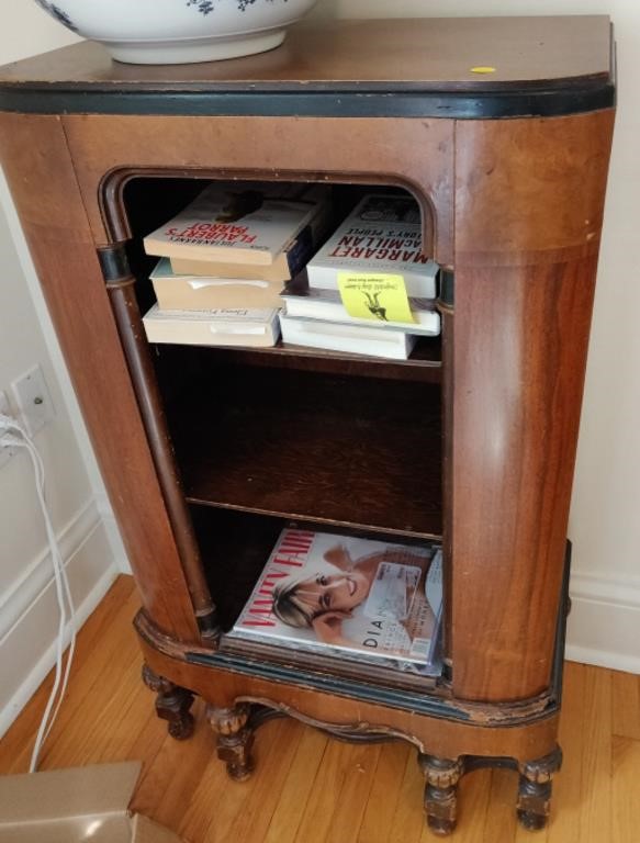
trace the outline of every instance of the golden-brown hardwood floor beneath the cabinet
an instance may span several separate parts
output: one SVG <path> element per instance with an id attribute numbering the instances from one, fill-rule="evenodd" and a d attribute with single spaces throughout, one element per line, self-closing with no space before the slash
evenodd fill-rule
<path id="1" fill-rule="evenodd" d="M 200 702 L 195 734 L 167 735 L 143 686 L 131 620 L 138 602 L 121 576 L 80 632 L 67 699 L 41 769 L 137 758 L 133 807 L 190 843 L 433 843 L 422 813 L 415 751 L 400 743 L 351 745 L 293 721 L 258 732 L 257 768 L 227 779 Z M 44 709 L 43 683 L 0 742 L 0 773 L 23 773 Z M 636 843 L 640 839 L 640 677 L 568 663 L 549 828 L 515 819 L 516 775 L 478 771 L 460 786 L 454 843 Z"/>

